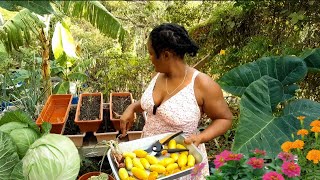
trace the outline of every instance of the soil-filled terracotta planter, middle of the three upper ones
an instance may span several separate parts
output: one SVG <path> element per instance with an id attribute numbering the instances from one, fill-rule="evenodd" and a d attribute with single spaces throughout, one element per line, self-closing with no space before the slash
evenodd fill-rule
<path id="1" fill-rule="evenodd" d="M 80 94 L 74 122 L 81 132 L 95 132 L 98 130 L 103 117 L 102 93 Z"/>

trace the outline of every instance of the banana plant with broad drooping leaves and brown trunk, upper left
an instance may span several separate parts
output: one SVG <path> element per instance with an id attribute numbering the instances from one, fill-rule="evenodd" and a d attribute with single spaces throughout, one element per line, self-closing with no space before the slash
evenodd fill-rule
<path id="1" fill-rule="evenodd" d="M 20 46 L 30 43 L 32 35 L 41 42 L 43 86 L 49 89 L 46 97 L 52 89 L 49 63 L 51 37 L 48 36 L 51 16 L 83 18 L 103 34 L 120 41 L 126 33 L 120 22 L 98 1 L 1 1 L 0 6 L 11 11 L 23 7 L 0 27 L 0 41 L 8 52 L 19 51 Z"/>

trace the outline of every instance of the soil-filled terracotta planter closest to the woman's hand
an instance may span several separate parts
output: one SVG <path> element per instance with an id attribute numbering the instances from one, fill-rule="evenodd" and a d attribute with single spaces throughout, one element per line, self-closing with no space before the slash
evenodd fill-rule
<path id="1" fill-rule="evenodd" d="M 133 97 L 130 92 L 110 93 L 110 120 L 116 130 L 120 130 L 120 117 L 131 103 Z"/>

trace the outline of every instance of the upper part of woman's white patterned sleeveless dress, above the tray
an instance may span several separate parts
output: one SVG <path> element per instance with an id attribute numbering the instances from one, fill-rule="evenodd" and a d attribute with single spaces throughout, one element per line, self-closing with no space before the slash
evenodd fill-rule
<path id="1" fill-rule="evenodd" d="M 167 132 L 184 131 L 188 136 L 196 133 L 201 111 L 194 93 L 194 80 L 199 74 L 195 71 L 191 82 L 165 100 L 156 109 L 155 115 L 153 89 L 159 73 L 151 80 L 149 86 L 141 97 L 141 107 L 147 113 L 146 123 L 143 128 L 143 136 L 152 136 Z"/>

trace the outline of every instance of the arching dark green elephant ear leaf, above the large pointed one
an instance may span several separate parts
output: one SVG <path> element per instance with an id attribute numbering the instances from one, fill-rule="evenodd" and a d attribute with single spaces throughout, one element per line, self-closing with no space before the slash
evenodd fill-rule
<path id="1" fill-rule="evenodd" d="M 303 79 L 306 74 L 307 67 L 301 58 L 295 56 L 263 57 L 232 69 L 222 76 L 218 83 L 225 91 L 242 96 L 252 82 L 264 75 L 278 79 L 285 87 Z"/>

